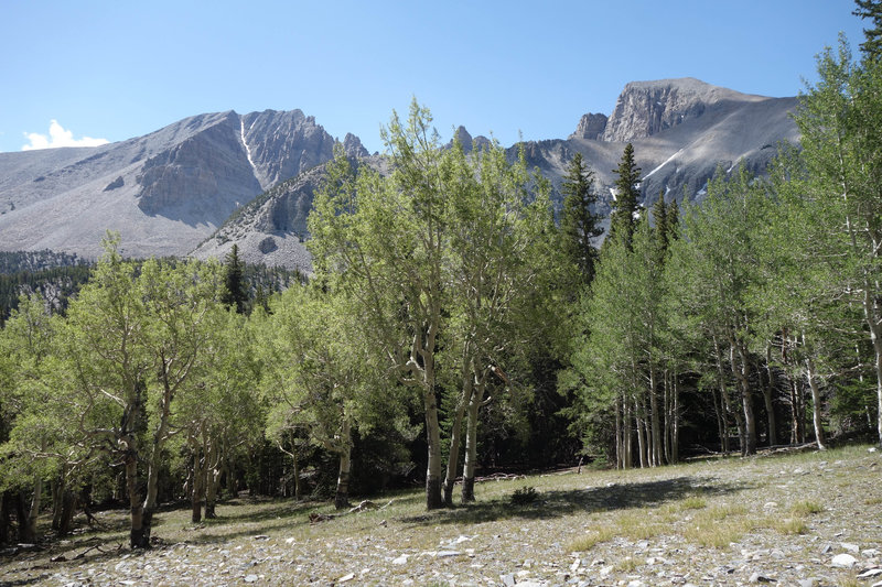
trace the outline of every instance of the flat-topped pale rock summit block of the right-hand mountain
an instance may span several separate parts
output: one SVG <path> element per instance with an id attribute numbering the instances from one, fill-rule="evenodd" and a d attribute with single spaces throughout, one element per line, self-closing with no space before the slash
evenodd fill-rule
<path id="1" fill-rule="evenodd" d="M 619 96 L 601 140 L 627 142 L 645 139 L 698 118 L 721 102 L 766 99 L 768 98 L 712 86 L 691 77 L 632 81 Z"/>

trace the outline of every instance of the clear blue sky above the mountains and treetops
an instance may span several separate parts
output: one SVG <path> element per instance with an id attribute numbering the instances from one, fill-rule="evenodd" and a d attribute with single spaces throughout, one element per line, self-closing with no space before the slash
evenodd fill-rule
<path id="1" fill-rule="evenodd" d="M 852 0 L 2 0 L 0 151 L 300 108 L 373 152 L 411 96 L 444 139 L 459 124 L 504 144 L 566 138 L 583 113 L 610 113 L 633 80 L 794 96 L 840 31 L 857 53 L 852 10 Z"/>

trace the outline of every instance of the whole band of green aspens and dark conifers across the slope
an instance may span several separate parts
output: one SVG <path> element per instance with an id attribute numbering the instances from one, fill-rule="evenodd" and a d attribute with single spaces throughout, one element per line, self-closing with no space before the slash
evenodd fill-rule
<path id="1" fill-rule="evenodd" d="M 344 508 L 420 482 L 431 509 L 481 467 L 882 443 L 882 65 L 842 43 L 819 73 L 800 149 L 720 169 L 700 205 L 643 209 L 628 144 L 600 249 L 580 156 L 556 225 L 523 155 L 443 148 L 416 101 L 389 174 L 330 165 L 309 281 L 108 238 L 64 313 L 25 295 L 2 329 L 0 542 L 49 502 L 58 534 L 125 502 L 147 547 L 160 502 L 198 521 L 243 489 Z"/>

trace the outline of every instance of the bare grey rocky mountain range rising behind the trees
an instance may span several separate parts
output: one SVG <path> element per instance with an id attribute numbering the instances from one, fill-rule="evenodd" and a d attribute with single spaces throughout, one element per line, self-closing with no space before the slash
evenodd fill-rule
<path id="1" fill-rule="evenodd" d="M 643 170 L 644 205 L 659 194 L 700 200 L 719 166 L 762 173 L 779 142 L 797 142 L 796 105 L 692 78 L 635 81 L 609 116 L 585 113 L 568 138 L 524 148 L 556 193 L 582 153 L 600 213 L 609 211 L 627 142 Z M 456 137 L 466 151 L 487 143 L 462 127 Z M 223 258 L 237 243 L 249 262 L 305 269 L 306 217 L 335 142 L 300 110 L 228 111 L 101 146 L 0 153 L 0 250 L 96 258 L 110 229 L 127 257 Z M 357 137 L 341 142 L 348 156 L 384 166 Z"/>

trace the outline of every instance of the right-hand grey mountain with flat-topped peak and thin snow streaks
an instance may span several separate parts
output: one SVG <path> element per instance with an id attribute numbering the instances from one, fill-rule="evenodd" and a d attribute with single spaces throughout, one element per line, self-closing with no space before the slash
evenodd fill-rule
<path id="1" fill-rule="evenodd" d="M 659 194 L 678 202 L 700 200 L 719 167 L 731 172 L 742 164 L 762 174 L 779 142 L 798 142 L 789 117 L 796 105 L 796 98 L 740 94 L 692 78 L 635 81 L 625 86 L 596 140 L 591 135 L 600 119 L 585 115 L 569 141 L 536 143 L 534 157 L 552 162 L 547 175 L 559 185 L 562 160 L 581 152 L 595 174 L 600 211 L 605 213 L 615 181 L 612 170 L 631 142 L 643 170 L 644 206 L 652 206 Z"/>

